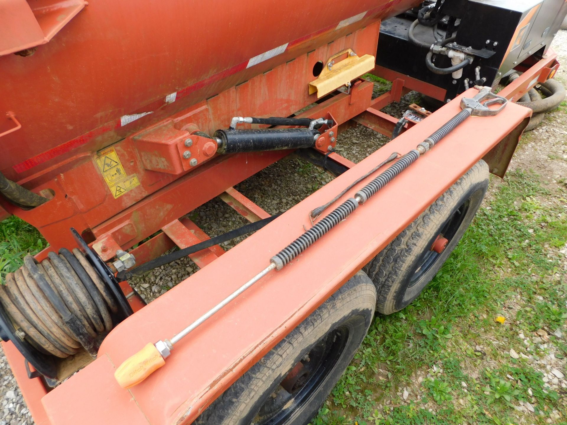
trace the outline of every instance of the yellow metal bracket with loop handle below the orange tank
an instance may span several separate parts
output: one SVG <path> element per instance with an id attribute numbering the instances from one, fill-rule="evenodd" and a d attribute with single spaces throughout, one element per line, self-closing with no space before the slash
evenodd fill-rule
<path id="1" fill-rule="evenodd" d="M 346 58 L 336 61 L 337 58 Z M 374 69 L 375 58 L 371 54 L 358 57 L 352 49 L 343 50 L 328 59 L 321 74 L 309 83 L 309 94 L 317 92 L 317 97 L 331 93 L 341 86 L 348 86 L 355 78 Z"/>

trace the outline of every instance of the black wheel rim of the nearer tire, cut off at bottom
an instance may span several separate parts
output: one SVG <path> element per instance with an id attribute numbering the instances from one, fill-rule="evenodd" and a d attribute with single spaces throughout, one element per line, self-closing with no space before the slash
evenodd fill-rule
<path id="1" fill-rule="evenodd" d="M 292 392 L 289 393 L 280 383 L 264 401 L 252 425 L 282 425 L 294 411 L 309 403 L 311 395 L 324 383 L 341 358 L 347 346 L 349 334 L 348 326 L 340 326 L 324 335 L 299 362 L 302 363 L 302 372 Z M 290 371 L 299 363 L 295 364 Z"/>

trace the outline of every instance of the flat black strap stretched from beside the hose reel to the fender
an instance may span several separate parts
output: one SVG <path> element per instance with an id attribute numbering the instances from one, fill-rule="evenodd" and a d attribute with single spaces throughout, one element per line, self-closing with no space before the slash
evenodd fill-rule
<path id="1" fill-rule="evenodd" d="M 116 278 L 119 280 L 119 282 L 122 282 L 125 281 L 126 279 L 130 279 L 133 276 L 138 276 L 143 273 L 146 273 L 146 271 L 153 270 L 156 267 L 169 264 L 170 262 L 175 260 L 179 260 L 179 258 L 187 257 L 189 254 L 193 254 L 194 252 L 200 251 L 201 249 L 210 248 L 213 247 L 214 245 L 234 239 L 235 237 L 247 235 L 248 233 L 255 232 L 263 228 L 266 224 L 268 224 L 272 220 L 276 219 L 278 216 L 280 216 L 280 214 L 272 215 L 271 217 L 265 218 L 263 220 L 258 220 L 257 222 L 249 223 L 246 224 L 245 226 L 239 227 L 238 229 L 223 233 L 223 235 L 215 236 L 206 241 L 202 241 L 198 244 L 191 245 L 191 247 L 180 249 L 179 251 L 175 251 L 170 254 L 158 258 L 154 258 L 154 260 L 145 262 L 141 266 L 138 266 L 130 271 L 127 270 L 120 271 L 117 274 Z"/>

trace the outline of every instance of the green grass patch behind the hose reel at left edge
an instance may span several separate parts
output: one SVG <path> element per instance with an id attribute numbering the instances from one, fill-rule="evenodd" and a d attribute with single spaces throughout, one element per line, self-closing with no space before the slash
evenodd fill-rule
<path id="1" fill-rule="evenodd" d="M 40 232 L 31 224 L 16 216 L 0 223 L 0 282 L 4 283 L 7 273 L 16 271 L 26 254 L 34 255 L 46 247 Z"/>

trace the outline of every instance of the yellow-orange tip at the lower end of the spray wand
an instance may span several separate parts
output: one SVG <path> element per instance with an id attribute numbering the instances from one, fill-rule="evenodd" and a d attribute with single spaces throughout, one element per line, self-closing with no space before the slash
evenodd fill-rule
<path id="1" fill-rule="evenodd" d="M 120 365 L 114 377 L 122 388 L 138 385 L 154 371 L 166 364 L 158 349 L 151 342 Z"/>

